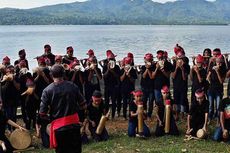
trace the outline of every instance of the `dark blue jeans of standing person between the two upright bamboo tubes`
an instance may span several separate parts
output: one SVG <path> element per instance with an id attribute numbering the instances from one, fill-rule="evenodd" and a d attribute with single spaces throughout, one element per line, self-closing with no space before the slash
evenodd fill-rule
<path id="1" fill-rule="evenodd" d="M 153 101 L 154 101 L 154 91 L 148 89 L 142 89 L 143 97 L 142 101 L 144 104 L 144 109 L 148 106 L 148 117 L 152 116 L 153 113 Z"/>

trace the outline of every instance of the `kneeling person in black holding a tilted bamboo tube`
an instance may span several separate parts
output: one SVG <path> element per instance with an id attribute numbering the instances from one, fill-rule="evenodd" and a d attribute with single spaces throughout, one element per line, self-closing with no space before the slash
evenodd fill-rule
<path id="1" fill-rule="evenodd" d="M 89 129 L 93 139 L 106 141 L 109 139 L 108 132 L 105 128 L 105 122 L 108 120 L 109 112 L 106 113 L 105 105 L 102 101 L 102 94 L 95 90 L 92 96 L 92 103 L 88 106 L 89 111 Z"/>

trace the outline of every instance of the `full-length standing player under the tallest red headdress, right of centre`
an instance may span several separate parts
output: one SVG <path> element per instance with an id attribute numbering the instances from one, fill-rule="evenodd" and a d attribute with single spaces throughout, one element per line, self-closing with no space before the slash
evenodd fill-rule
<path id="1" fill-rule="evenodd" d="M 176 60 L 173 61 L 173 96 L 175 104 L 177 104 L 176 120 L 179 119 L 179 113 L 182 118 L 184 113 L 188 110 L 188 75 L 190 72 L 190 66 L 188 65 L 188 59 L 185 57 L 184 51 L 181 50 L 176 54 Z"/>

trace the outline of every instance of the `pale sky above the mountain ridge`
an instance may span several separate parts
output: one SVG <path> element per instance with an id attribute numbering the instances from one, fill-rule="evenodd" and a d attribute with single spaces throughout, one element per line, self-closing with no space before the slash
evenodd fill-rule
<path id="1" fill-rule="evenodd" d="M 11 8 L 33 8 L 45 5 L 53 5 L 59 3 L 71 3 L 75 1 L 86 1 L 86 0 L 0 0 L 0 8 L 11 7 Z M 165 3 L 176 0 L 153 0 L 155 2 Z M 213 1 L 213 0 L 210 0 Z"/>

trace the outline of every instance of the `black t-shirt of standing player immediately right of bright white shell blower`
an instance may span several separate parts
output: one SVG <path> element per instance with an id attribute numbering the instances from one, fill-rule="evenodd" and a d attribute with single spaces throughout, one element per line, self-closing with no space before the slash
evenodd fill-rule
<path id="1" fill-rule="evenodd" d="M 124 74 L 124 69 L 121 70 L 121 76 Z M 129 72 L 131 79 L 136 80 L 137 79 L 137 73 L 136 71 L 131 68 Z M 125 76 L 125 79 L 121 81 L 121 92 L 122 93 L 130 93 L 133 90 L 135 90 L 135 81 L 130 81 L 130 78 L 128 76 Z"/>

